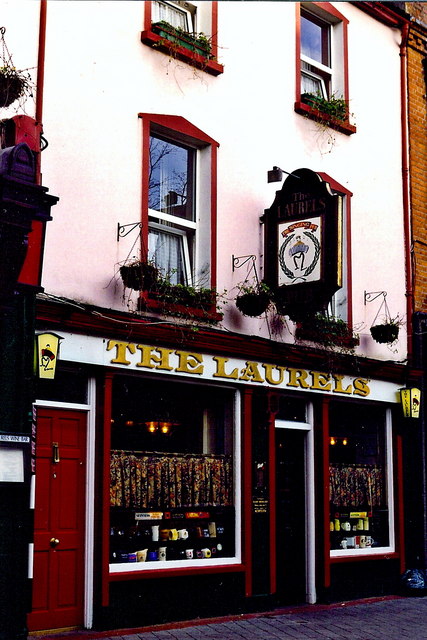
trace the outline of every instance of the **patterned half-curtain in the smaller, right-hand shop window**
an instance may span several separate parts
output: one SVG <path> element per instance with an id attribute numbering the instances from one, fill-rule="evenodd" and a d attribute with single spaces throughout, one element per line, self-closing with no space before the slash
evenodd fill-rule
<path id="1" fill-rule="evenodd" d="M 329 500 L 340 507 L 385 503 L 384 477 L 376 465 L 335 465 L 329 467 Z"/>

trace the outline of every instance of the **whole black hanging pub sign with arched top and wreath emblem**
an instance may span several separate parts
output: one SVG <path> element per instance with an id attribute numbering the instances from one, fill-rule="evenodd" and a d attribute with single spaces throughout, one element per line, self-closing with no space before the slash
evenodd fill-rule
<path id="1" fill-rule="evenodd" d="M 285 180 L 262 218 L 265 281 L 292 319 L 326 309 L 342 286 L 342 196 L 310 169 Z"/>

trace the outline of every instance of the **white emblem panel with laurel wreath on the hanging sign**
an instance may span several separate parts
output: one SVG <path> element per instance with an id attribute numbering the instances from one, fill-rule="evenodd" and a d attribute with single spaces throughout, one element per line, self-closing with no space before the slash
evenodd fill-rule
<path id="1" fill-rule="evenodd" d="M 320 280 L 321 218 L 279 224 L 278 233 L 279 286 Z"/>

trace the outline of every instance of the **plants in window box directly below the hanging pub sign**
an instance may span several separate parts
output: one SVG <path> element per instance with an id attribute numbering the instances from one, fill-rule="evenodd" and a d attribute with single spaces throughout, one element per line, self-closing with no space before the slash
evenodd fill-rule
<path id="1" fill-rule="evenodd" d="M 295 335 L 298 340 L 315 342 L 324 347 L 351 350 L 359 344 L 359 336 L 352 332 L 344 320 L 323 313 L 316 313 L 301 321 Z"/>

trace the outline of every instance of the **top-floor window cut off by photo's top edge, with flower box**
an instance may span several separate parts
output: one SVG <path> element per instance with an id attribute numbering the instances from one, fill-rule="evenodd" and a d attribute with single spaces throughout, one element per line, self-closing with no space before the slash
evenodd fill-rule
<path id="1" fill-rule="evenodd" d="M 141 41 L 210 75 L 217 76 L 224 71 L 217 61 L 217 1 L 146 1 Z"/>

